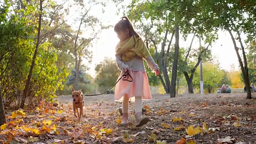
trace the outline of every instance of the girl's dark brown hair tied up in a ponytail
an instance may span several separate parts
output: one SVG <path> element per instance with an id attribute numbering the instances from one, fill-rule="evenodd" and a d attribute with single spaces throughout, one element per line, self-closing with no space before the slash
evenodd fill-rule
<path id="1" fill-rule="evenodd" d="M 114 31 L 120 32 L 125 31 L 126 29 L 129 30 L 129 36 L 136 36 L 137 38 L 140 38 L 140 35 L 134 30 L 129 18 L 127 18 L 127 16 L 123 16 L 122 19 L 114 26 Z"/>

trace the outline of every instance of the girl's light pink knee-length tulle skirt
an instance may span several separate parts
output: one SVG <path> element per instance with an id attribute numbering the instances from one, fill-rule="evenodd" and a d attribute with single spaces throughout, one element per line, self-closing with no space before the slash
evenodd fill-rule
<path id="1" fill-rule="evenodd" d="M 151 100 L 152 95 L 150 92 L 148 76 L 146 75 L 146 73 L 141 71 L 131 71 L 130 75 L 133 78 L 132 82 L 124 81 L 121 79 L 116 84 L 115 98 L 114 98 L 115 101 L 122 102 L 122 98 L 124 94 L 128 94 L 131 102 L 135 101 L 134 96 L 140 96 L 142 97 L 142 100 Z M 121 77 L 122 77 L 122 74 L 119 76 L 119 78 Z M 131 78 L 129 77 L 128 80 L 131 80 Z"/>

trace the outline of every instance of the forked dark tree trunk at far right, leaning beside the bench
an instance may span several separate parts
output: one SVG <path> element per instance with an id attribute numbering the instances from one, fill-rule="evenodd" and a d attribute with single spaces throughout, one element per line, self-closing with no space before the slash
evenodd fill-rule
<path id="1" fill-rule="evenodd" d="M 240 57 L 240 54 L 238 52 L 238 47 L 236 46 L 236 41 L 234 39 L 234 36 L 230 30 L 230 28 L 227 28 L 228 29 L 228 32 L 231 36 L 231 39 L 232 39 L 232 42 L 234 44 L 234 49 L 236 50 L 236 55 L 237 55 L 237 58 L 238 58 L 238 61 L 239 61 L 239 64 L 240 64 L 240 68 L 242 70 L 242 75 L 244 77 L 244 84 L 245 84 L 245 87 L 246 87 L 246 90 L 247 90 L 247 96 L 246 96 L 246 99 L 252 99 L 252 94 L 251 94 L 251 89 L 250 89 L 250 80 L 249 80 L 249 74 L 248 74 L 248 68 L 247 68 L 247 62 L 246 62 L 246 58 L 245 59 L 245 66 L 243 65 L 243 62 L 242 62 L 242 59 Z M 240 36 L 239 36 L 240 37 Z M 241 40 L 240 40 L 241 42 Z M 245 56 L 245 52 L 242 48 L 242 51 L 243 51 L 243 56 Z"/>

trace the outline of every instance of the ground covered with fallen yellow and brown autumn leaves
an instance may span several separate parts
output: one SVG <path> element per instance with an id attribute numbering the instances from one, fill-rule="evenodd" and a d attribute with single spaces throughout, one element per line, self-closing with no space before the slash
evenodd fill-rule
<path id="1" fill-rule="evenodd" d="M 0 144 L 256 144 L 256 99 L 245 94 L 190 94 L 178 98 L 154 95 L 143 102 L 150 122 L 135 127 L 134 103 L 130 124 L 113 95 L 85 98 L 84 116 L 78 124 L 71 96 L 59 96 L 58 105 L 7 112 Z M 255 98 L 255 95 L 254 95 Z"/>

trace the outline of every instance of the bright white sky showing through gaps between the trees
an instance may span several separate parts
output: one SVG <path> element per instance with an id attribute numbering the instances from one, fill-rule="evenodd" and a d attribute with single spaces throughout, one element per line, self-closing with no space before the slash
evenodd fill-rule
<path id="1" fill-rule="evenodd" d="M 77 28 L 78 25 L 74 24 L 74 19 L 79 14 L 79 11 L 76 11 L 76 8 L 70 9 L 70 14 L 68 16 L 67 23 L 72 26 L 72 28 Z M 102 13 L 102 6 L 94 6 L 91 10 L 91 14 L 98 17 L 102 22 L 105 24 L 113 25 L 120 20 L 122 17 L 122 14 L 117 15 L 116 11 L 117 8 L 115 4 L 108 3 L 107 6 L 104 8 L 105 12 Z M 136 27 L 135 27 L 136 28 Z M 83 35 L 86 35 L 86 32 L 84 32 Z M 220 67 L 224 70 L 230 70 L 231 65 L 234 64 L 235 68 L 239 69 L 239 63 L 238 58 L 236 56 L 236 51 L 234 50 L 234 45 L 232 43 L 230 34 L 228 32 L 218 32 L 218 40 L 216 40 L 215 43 L 212 44 L 211 50 L 212 55 L 216 57 L 216 60 L 220 63 Z M 187 48 L 190 45 L 190 42 L 192 40 L 193 34 L 189 35 L 186 42 L 184 40 L 180 39 L 180 47 Z M 116 33 L 114 32 L 114 27 L 111 27 L 108 30 L 102 30 L 100 34 L 98 34 L 98 40 L 94 42 L 93 46 L 89 48 L 92 53 L 92 62 L 89 64 L 86 60 L 83 61 L 83 64 L 86 64 L 90 70 L 88 73 L 95 77 L 96 73 L 94 71 L 94 68 L 96 64 L 99 64 L 104 60 L 105 57 L 115 58 L 115 47 L 118 43 L 118 38 L 116 36 Z M 180 36 L 181 38 L 181 36 Z M 245 38 L 242 35 L 242 38 Z M 173 40 L 174 44 L 174 40 Z M 237 43 L 238 44 L 238 43 Z M 198 47 L 199 42 L 198 39 L 194 39 L 194 42 L 192 44 L 192 48 Z M 245 46 L 245 45 L 244 45 Z"/>

